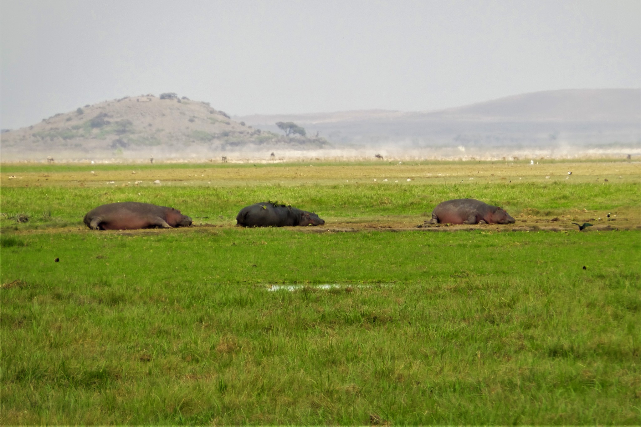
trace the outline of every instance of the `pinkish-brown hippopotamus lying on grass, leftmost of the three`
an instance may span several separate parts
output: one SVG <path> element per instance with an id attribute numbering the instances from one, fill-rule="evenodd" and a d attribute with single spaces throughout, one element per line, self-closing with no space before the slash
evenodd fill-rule
<path id="1" fill-rule="evenodd" d="M 192 225 L 192 218 L 181 214 L 178 209 L 139 202 L 98 206 L 85 215 L 84 221 L 92 230 L 171 229 Z"/>

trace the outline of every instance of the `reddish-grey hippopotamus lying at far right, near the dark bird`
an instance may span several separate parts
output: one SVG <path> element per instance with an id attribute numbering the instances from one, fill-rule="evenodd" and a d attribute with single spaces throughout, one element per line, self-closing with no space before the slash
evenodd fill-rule
<path id="1" fill-rule="evenodd" d="M 474 198 L 456 198 L 437 205 L 431 224 L 513 224 L 515 219 L 503 208 L 488 205 Z"/>

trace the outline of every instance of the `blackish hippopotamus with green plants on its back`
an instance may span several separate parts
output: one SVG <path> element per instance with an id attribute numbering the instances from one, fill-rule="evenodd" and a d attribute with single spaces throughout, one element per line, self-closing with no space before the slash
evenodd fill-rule
<path id="1" fill-rule="evenodd" d="M 324 220 L 315 213 L 273 202 L 260 202 L 246 206 L 240 209 L 236 216 L 236 225 L 243 227 L 292 227 L 324 223 Z"/>

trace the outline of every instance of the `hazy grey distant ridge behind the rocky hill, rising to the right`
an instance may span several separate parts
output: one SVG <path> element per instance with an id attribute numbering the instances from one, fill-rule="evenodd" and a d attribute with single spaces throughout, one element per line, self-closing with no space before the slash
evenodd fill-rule
<path id="1" fill-rule="evenodd" d="M 235 117 L 274 130 L 293 121 L 344 146 L 597 147 L 641 144 L 641 89 L 524 93 L 437 111 L 360 110 Z"/>

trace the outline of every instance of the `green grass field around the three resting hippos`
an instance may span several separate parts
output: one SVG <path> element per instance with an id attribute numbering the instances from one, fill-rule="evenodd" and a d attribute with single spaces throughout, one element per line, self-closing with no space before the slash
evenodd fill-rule
<path id="1" fill-rule="evenodd" d="M 16 183 L 11 167 L 0 181 L 3 424 L 641 421 L 638 166 L 608 183 L 397 186 L 370 183 L 379 171 L 368 165 L 352 167 L 368 179 L 354 185 L 322 172 L 229 185 L 227 166 L 212 166 L 219 181 L 162 187 L 71 185 L 69 166 L 44 166 L 42 186 L 42 166 L 20 166 L 34 179 Z M 367 229 L 422 223 L 455 197 L 501 204 L 516 225 L 595 225 Z M 313 209 L 326 226 L 233 227 L 240 207 L 269 199 Z M 210 225 L 81 223 L 124 200 Z"/>

